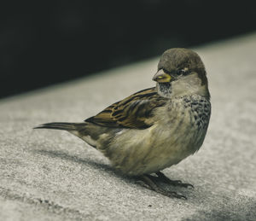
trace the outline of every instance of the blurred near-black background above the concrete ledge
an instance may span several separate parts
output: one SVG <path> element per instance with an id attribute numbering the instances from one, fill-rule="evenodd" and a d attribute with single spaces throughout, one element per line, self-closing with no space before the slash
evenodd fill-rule
<path id="1" fill-rule="evenodd" d="M 0 97 L 255 30 L 253 1 L 6 1 Z"/>

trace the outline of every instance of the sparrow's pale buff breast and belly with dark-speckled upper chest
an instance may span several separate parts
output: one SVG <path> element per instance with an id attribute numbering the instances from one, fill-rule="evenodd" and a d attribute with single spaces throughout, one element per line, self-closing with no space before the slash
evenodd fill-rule
<path id="1" fill-rule="evenodd" d="M 154 125 L 144 130 L 124 129 L 103 153 L 125 174 L 159 172 L 201 147 L 210 109 L 201 97 L 172 100 L 155 111 Z"/>

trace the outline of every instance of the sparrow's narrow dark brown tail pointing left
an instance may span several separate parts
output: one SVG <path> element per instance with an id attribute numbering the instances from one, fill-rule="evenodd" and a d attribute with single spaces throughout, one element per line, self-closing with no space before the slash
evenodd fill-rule
<path id="1" fill-rule="evenodd" d="M 53 122 L 38 125 L 33 129 L 54 129 L 64 131 L 77 131 L 79 127 L 86 125 L 86 123 L 66 123 L 66 122 Z"/>

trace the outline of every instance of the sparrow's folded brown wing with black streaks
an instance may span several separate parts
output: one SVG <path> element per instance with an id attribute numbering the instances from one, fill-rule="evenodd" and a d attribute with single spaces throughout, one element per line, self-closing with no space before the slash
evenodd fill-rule
<path id="1" fill-rule="evenodd" d="M 164 106 L 167 99 L 148 88 L 113 103 L 96 116 L 84 121 L 108 127 L 144 129 L 153 125 L 153 110 Z"/>

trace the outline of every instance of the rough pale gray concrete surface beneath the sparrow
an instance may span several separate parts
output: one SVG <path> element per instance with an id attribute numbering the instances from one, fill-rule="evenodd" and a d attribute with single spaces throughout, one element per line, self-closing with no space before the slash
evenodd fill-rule
<path id="1" fill-rule="evenodd" d="M 195 50 L 212 119 L 201 150 L 165 170 L 195 185 L 177 189 L 188 201 L 120 177 L 65 131 L 32 131 L 82 121 L 154 85 L 157 58 L 0 101 L 0 220 L 256 220 L 256 34 Z"/>

